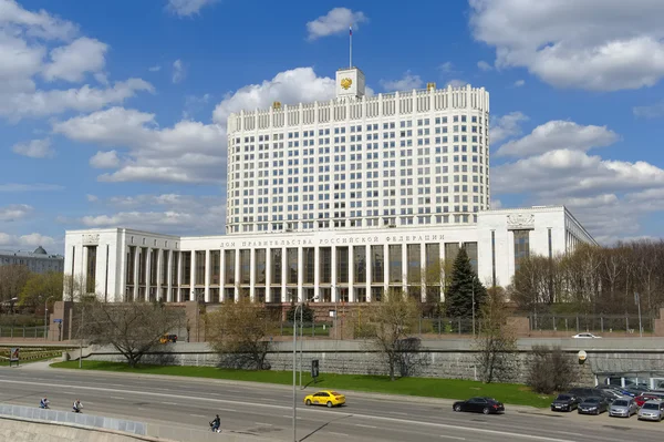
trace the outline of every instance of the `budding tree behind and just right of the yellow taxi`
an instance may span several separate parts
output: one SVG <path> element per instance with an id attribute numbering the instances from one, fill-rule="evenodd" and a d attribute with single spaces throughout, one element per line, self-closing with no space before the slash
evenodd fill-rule
<path id="1" fill-rule="evenodd" d="M 419 318 L 419 302 L 404 292 L 384 295 L 372 310 L 371 321 L 373 333 L 371 347 L 383 357 L 390 371 L 390 379 L 395 380 L 395 372 L 408 373 L 404 367 L 405 360 L 412 360 L 412 352 L 418 352 L 419 347 L 413 347 L 413 335 L 417 329 Z"/>

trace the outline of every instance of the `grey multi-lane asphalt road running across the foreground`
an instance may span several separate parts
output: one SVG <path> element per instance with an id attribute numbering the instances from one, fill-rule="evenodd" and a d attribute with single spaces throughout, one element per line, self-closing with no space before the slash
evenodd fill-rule
<path id="1" fill-rule="evenodd" d="M 307 392 L 305 392 L 307 391 Z M 303 441 L 551 441 L 614 439 L 661 441 L 664 423 L 584 417 L 506 405 L 502 415 L 455 413 L 452 401 L 387 400 L 346 393 L 346 407 L 307 408 L 298 390 L 298 439 Z M 79 398 L 84 412 L 178 428 L 208 429 L 215 413 L 221 428 L 292 441 L 292 390 L 186 378 L 21 368 L 0 369 L 0 402 L 37 407 L 48 395 L 52 409 L 70 410 Z M 499 399 L 499 398 L 497 398 Z"/>

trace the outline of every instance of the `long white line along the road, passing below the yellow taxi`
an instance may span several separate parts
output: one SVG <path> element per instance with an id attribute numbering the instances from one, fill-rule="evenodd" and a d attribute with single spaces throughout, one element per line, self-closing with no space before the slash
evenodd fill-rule
<path id="1" fill-rule="evenodd" d="M 225 400 L 225 399 L 187 397 L 187 395 L 181 395 L 181 394 L 166 394 L 166 393 L 156 393 L 156 392 L 152 392 L 152 391 L 115 390 L 115 389 L 107 389 L 107 388 L 103 388 L 103 387 L 83 387 L 83 386 L 73 386 L 73 384 L 71 384 L 71 386 L 68 386 L 68 384 L 53 386 L 52 383 L 39 383 L 39 382 L 33 382 L 33 381 L 15 381 L 15 380 L 6 380 L 6 379 L 0 379 L 0 382 L 28 384 L 28 386 L 32 386 L 32 387 L 62 388 L 62 389 L 70 389 L 70 390 L 71 389 L 73 389 L 73 390 L 93 390 L 93 391 L 107 391 L 107 392 L 125 393 L 125 394 L 142 394 L 142 395 L 153 395 L 153 397 L 162 397 L 162 398 L 164 398 L 164 397 L 165 398 L 177 398 L 177 399 L 183 399 L 186 401 L 199 400 L 199 401 L 207 401 L 207 402 L 222 402 L 222 403 L 232 403 L 232 404 L 237 404 L 237 405 L 246 405 L 246 407 L 251 407 L 251 408 L 262 407 L 262 408 L 271 408 L 271 409 L 280 409 L 280 410 L 291 410 L 290 405 L 273 405 L 273 404 L 267 404 L 267 403 L 260 403 L 260 402 L 229 401 L 229 400 Z M 317 410 L 311 410 L 311 409 L 301 409 L 300 411 L 325 412 L 324 410 L 317 411 Z M 443 429 L 454 429 L 457 431 L 469 431 L 469 432 L 476 432 L 476 433 L 495 434 L 498 436 L 530 439 L 533 441 L 575 442 L 575 441 L 571 441 L 571 440 L 567 440 L 567 439 L 556 439 L 556 438 L 547 438 L 547 436 L 540 436 L 540 435 L 529 435 L 529 434 L 523 434 L 523 433 L 515 433 L 515 432 L 510 432 L 510 431 L 478 429 L 478 428 L 473 428 L 473 426 L 453 425 L 453 424 L 447 424 L 447 423 L 426 422 L 426 421 L 418 421 L 418 420 L 388 418 L 388 417 L 380 417 L 380 415 L 371 415 L 371 414 L 356 414 L 356 413 L 343 413 L 343 414 L 347 414 L 349 417 L 354 417 L 354 418 L 360 418 L 360 419 L 373 419 L 373 420 L 378 420 L 378 421 L 391 421 L 391 422 L 397 422 L 397 423 L 418 424 L 418 425 L 436 426 L 436 428 L 443 428 Z M 283 415 L 283 418 L 292 418 L 292 415 Z M 298 417 L 298 419 L 302 419 L 302 418 Z"/>

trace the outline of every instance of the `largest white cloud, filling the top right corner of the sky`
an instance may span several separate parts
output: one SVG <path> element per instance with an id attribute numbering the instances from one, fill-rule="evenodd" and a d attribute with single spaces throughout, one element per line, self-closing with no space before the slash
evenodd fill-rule
<path id="1" fill-rule="evenodd" d="M 558 88 L 616 91 L 664 76 L 664 2 L 469 0 L 476 40 L 498 68 L 521 66 Z"/>

